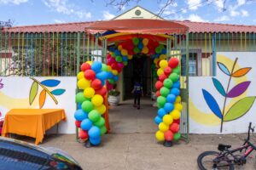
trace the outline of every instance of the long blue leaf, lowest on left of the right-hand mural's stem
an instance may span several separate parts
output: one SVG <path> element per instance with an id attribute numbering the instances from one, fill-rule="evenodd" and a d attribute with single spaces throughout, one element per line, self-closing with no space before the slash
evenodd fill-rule
<path id="1" fill-rule="evenodd" d="M 222 119 L 222 113 L 219 109 L 217 101 L 212 97 L 212 94 L 209 94 L 207 90 L 202 89 L 202 93 L 204 95 L 205 100 L 207 101 L 207 105 L 211 109 L 211 111 L 218 116 L 218 118 Z"/>

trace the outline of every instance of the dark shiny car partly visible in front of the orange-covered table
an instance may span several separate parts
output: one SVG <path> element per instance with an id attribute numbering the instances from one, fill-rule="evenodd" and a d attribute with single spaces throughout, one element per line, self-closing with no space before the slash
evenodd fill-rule
<path id="1" fill-rule="evenodd" d="M 79 163 L 63 150 L 0 137 L 0 169 L 73 169 Z"/>

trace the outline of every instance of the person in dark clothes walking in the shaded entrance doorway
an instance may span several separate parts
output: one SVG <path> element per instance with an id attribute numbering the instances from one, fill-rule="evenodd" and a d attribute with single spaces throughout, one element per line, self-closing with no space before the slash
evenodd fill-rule
<path id="1" fill-rule="evenodd" d="M 134 107 L 140 109 L 140 100 L 141 96 L 143 96 L 143 85 L 138 80 L 135 81 L 134 88 L 132 89 L 131 93 L 133 94 L 134 98 Z"/>

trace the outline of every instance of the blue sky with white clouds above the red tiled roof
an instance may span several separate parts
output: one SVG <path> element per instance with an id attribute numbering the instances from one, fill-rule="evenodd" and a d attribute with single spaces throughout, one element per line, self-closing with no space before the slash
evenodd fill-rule
<path id="1" fill-rule="evenodd" d="M 0 21 L 29 26 L 111 20 L 139 5 L 159 14 L 167 0 L 131 0 L 119 9 L 111 0 L 0 0 Z M 120 1 L 120 0 L 118 0 Z M 173 0 L 161 14 L 166 20 L 191 20 L 256 26 L 256 0 Z M 225 7 L 224 7 L 225 4 Z"/>

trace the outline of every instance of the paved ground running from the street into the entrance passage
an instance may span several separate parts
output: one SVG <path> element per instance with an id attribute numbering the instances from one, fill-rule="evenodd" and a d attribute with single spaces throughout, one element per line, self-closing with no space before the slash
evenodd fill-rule
<path id="1" fill-rule="evenodd" d="M 196 158 L 204 150 L 216 150 L 218 143 L 242 144 L 245 134 L 190 135 L 190 142 L 180 141 L 166 148 L 154 139 L 156 109 L 150 100 L 143 100 L 141 110 L 126 101 L 110 111 L 111 133 L 102 137 L 98 147 L 85 148 L 75 141 L 75 135 L 48 135 L 43 146 L 54 146 L 67 151 L 84 169 L 99 170 L 172 170 L 197 169 Z M 254 156 L 247 167 L 256 169 Z"/>

